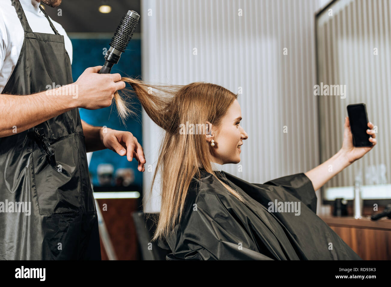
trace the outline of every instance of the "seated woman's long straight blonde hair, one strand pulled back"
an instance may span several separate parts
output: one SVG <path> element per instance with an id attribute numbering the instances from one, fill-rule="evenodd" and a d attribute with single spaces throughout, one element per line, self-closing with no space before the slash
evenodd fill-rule
<path id="1" fill-rule="evenodd" d="M 126 117 L 134 113 L 127 99 L 135 94 L 149 117 L 165 130 L 152 179 L 153 186 L 156 175 L 161 172 L 161 209 L 152 239 L 157 240 L 167 236 L 180 222 L 190 182 L 195 174 L 200 176 L 199 166 L 215 175 L 210 165 L 212 147 L 205 140 L 205 135 L 181 134 L 180 124 L 206 124 L 208 121 L 218 129 L 222 117 L 238 95 L 219 85 L 204 82 L 156 85 L 132 78 L 122 78 L 122 81 L 129 83 L 133 91 L 121 92 L 122 96 L 115 94 L 119 115 Z M 239 193 L 220 182 L 243 201 Z"/>

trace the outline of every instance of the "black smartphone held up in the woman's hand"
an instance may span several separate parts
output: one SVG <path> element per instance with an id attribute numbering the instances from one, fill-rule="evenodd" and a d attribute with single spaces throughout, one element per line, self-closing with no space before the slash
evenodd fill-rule
<path id="1" fill-rule="evenodd" d="M 369 137 L 366 133 L 368 128 L 368 115 L 365 104 L 348 105 L 348 117 L 350 122 L 350 130 L 353 135 L 353 145 L 355 147 L 371 147 Z"/>

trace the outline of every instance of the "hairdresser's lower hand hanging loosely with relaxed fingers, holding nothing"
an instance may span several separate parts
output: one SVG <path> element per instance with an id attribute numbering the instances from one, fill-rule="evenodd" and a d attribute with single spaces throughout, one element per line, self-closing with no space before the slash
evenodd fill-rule
<path id="1" fill-rule="evenodd" d="M 133 158 L 136 158 L 138 161 L 138 170 L 140 172 L 145 170 L 144 164 L 146 161 L 143 148 L 131 132 L 101 128 L 100 139 L 106 148 L 117 152 L 120 156 L 126 154 L 128 161 L 132 161 Z"/>

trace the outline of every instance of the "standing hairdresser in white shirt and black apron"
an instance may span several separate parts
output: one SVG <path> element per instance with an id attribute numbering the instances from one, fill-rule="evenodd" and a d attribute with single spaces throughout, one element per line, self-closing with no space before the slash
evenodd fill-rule
<path id="1" fill-rule="evenodd" d="M 86 152 L 134 157 L 140 172 L 145 158 L 130 132 L 90 126 L 78 108 L 110 106 L 125 83 L 100 66 L 73 83 L 70 39 L 40 1 L 0 1 L 0 259 L 100 259 Z"/>

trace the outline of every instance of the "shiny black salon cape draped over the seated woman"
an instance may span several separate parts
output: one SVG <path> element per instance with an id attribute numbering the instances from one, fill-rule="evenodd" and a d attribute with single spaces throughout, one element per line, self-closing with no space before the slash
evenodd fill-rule
<path id="1" fill-rule="evenodd" d="M 251 184 L 225 172 L 217 176 L 246 198 L 240 202 L 212 175 L 193 178 L 179 225 L 158 245 L 177 259 L 361 260 L 316 215 L 312 182 L 303 174 Z M 269 213 L 269 202 L 300 202 L 294 212 Z"/>

